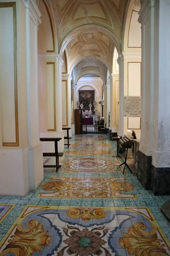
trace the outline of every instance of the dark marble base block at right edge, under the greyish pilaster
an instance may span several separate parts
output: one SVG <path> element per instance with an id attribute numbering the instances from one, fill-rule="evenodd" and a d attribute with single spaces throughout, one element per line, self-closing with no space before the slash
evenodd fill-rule
<path id="1" fill-rule="evenodd" d="M 170 195 L 170 168 L 156 168 L 152 165 L 150 188 L 154 195 Z"/>

